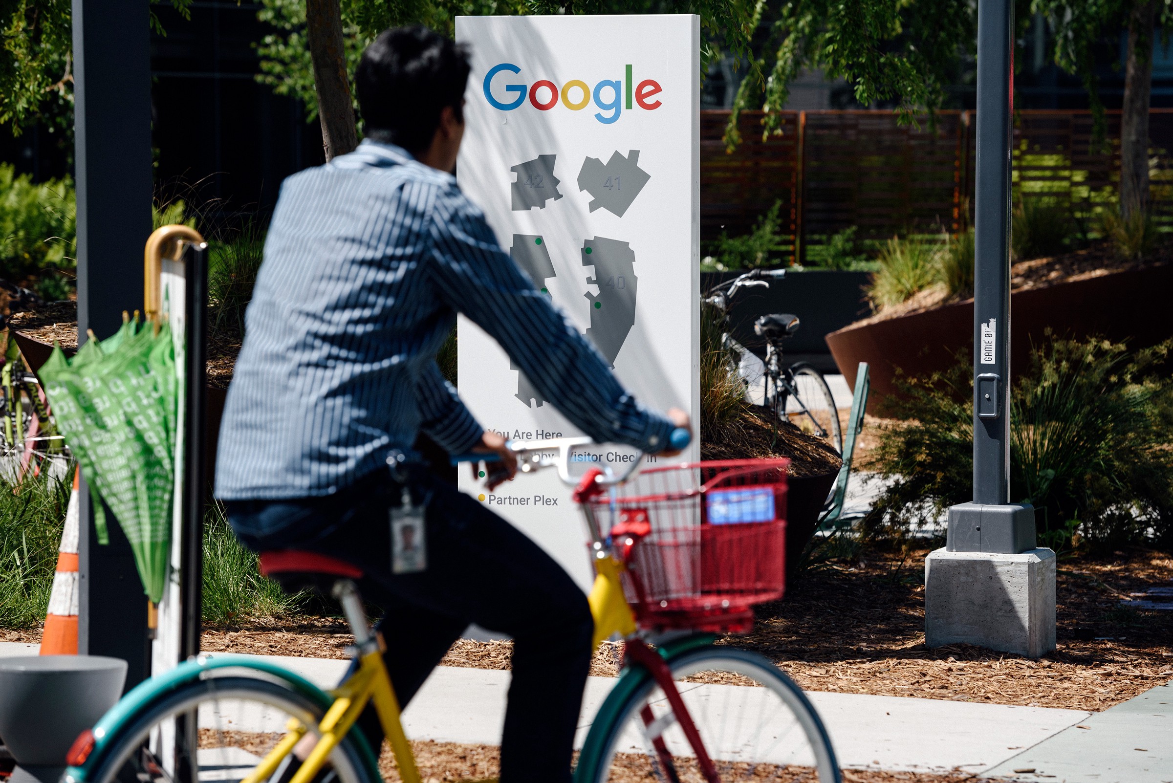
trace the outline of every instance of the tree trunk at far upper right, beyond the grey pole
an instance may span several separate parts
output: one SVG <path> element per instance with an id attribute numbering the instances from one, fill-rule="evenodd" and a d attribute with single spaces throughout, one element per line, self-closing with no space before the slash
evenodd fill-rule
<path id="1" fill-rule="evenodd" d="M 1141 0 L 1128 16 L 1128 62 L 1120 113 L 1120 215 L 1125 218 L 1148 211 L 1148 98 L 1157 4 Z"/>

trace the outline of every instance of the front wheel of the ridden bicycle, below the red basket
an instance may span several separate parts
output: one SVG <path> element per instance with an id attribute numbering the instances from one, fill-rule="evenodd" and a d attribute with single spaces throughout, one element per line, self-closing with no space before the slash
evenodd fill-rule
<path id="1" fill-rule="evenodd" d="M 705 647 L 669 666 L 723 782 L 840 783 L 835 753 L 818 713 L 802 689 L 767 659 Z M 604 733 L 603 741 L 594 744 L 588 737 L 584 745 L 601 750 L 594 758 L 579 758 L 575 783 L 705 783 L 692 747 L 653 680 L 615 706 L 610 717 L 602 711 L 591 734 Z"/>

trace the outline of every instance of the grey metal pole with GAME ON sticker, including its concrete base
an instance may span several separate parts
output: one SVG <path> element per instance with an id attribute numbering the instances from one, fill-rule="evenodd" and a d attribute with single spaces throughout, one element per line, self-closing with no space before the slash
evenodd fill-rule
<path id="1" fill-rule="evenodd" d="M 949 509 L 925 560 L 925 641 L 1042 655 L 1055 648 L 1055 553 L 1010 503 L 1010 156 L 1013 0 L 978 0 L 974 259 L 974 501 Z"/>

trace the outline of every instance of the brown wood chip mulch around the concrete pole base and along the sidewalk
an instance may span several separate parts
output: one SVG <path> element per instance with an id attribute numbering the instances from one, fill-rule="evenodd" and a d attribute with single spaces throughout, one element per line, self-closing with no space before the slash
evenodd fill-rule
<path id="1" fill-rule="evenodd" d="M 839 693 L 1097 711 L 1173 679 L 1173 611 L 1127 605 L 1131 593 L 1173 584 L 1173 556 L 1135 549 L 1060 559 L 1058 648 L 1031 660 L 967 645 L 924 646 L 928 551 L 872 552 L 813 570 L 785 600 L 759 610 L 752 634 L 720 644 L 762 653 L 804 688 Z M 209 629 L 203 639 L 209 651 L 316 658 L 346 658 L 350 644 L 340 621 L 312 618 Z M 511 652 L 509 641 L 462 639 L 441 665 L 508 669 Z M 605 644 L 591 674 L 615 676 L 619 666 L 618 646 Z"/>

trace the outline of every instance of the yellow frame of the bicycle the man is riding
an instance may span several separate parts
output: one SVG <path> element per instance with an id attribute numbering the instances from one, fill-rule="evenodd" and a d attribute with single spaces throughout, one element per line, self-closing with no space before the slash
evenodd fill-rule
<path id="1" fill-rule="evenodd" d="M 619 581 L 624 565 L 605 552 L 599 551 L 598 554 L 602 557 L 595 558 L 595 585 L 586 599 L 595 618 L 592 649 L 615 633 L 629 636 L 636 632 L 636 619 L 623 597 L 623 585 Z M 382 648 L 382 640 L 379 641 L 379 647 Z M 420 783 L 415 756 L 404 733 L 399 700 L 395 697 L 395 689 L 391 685 L 380 649 L 364 653 L 359 659 L 358 670 L 328 693 L 334 697 L 334 703 L 318 723 L 320 738 L 290 783 L 310 783 L 313 779 L 371 700 L 374 701 L 375 711 L 379 714 L 382 733 L 387 735 L 391 749 L 395 754 L 400 777 L 404 783 Z M 291 719 L 286 731 L 282 741 L 240 783 L 262 783 L 269 779 L 277 771 L 282 760 L 293 753 L 293 748 L 308 728 L 297 719 Z M 373 750 L 378 754 L 378 748 Z"/>

